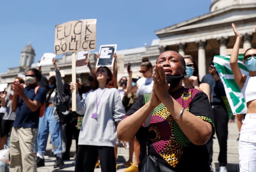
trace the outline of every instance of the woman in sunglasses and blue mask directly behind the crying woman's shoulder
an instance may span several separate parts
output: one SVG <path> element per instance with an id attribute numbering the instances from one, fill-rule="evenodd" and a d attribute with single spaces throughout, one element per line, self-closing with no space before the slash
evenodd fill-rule
<path id="1" fill-rule="evenodd" d="M 184 60 L 186 62 L 187 75 L 185 77 L 183 86 L 185 88 L 195 88 L 203 91 L 208 96 L 210 101 L 210 85 L 208 83 L 200 83 L 198 67 L 195 59 L 192 56 L 186 56 L 184 57 Z"/>

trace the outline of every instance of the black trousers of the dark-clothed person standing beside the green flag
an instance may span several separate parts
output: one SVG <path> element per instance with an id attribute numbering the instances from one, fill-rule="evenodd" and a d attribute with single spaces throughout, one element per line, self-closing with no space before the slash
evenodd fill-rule
<path id="1" fill-rule="evenodd" d="M 228 139 L 228 113 L 225 107 L 214 106 L 212 108 L 215 132 L 218 137 L 220 153 L 218 161 L 220 166 L 227 164 L 227 139 Z M 209 163 L 212 164 L 212 137 L 206 142 L 208 153 L 210 156 Z"/>

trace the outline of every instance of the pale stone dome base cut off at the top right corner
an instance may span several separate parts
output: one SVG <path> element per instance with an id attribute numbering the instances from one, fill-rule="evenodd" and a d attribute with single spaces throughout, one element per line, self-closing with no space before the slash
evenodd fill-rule
<path id="1" fill-rule="evenodd" d="M 220 10 L 233 5 L 255 4 L 255 0 L 212 0 L 210 11 Z"/>

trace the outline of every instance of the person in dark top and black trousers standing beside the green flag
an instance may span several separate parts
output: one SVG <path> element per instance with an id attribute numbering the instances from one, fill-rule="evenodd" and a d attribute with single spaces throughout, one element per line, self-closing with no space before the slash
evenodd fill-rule
<path id="1" fill-rule="evenodd" d="M 204 75 L 202 82 L 210 85 L 210 103 L 212 107 L 216 135 L 218 137 L 220 153 L 218 161 L 220 163 L 220 172 L 227 172 L 227 139 L 228 139 L 228 113 L 223 98 L 226 97 L 223 83 L 216 71 L 213 58 L 209 66 L 209 74 Z M 209 163 L 212 169 L 212 137 L 206 142 L 210 156 Z"/>

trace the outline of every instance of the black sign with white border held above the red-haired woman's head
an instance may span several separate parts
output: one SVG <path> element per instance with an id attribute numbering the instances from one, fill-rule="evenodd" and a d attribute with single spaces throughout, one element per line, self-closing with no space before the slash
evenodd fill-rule
<path id="1" fill-rule="evenodd" d="M 116 53 L 116 44 L 113 45 L 101 45 L 100 57 L 97 59 L 96 67 L 107 66 L 112 67 L 114 64 L 113 55 Z"/>

